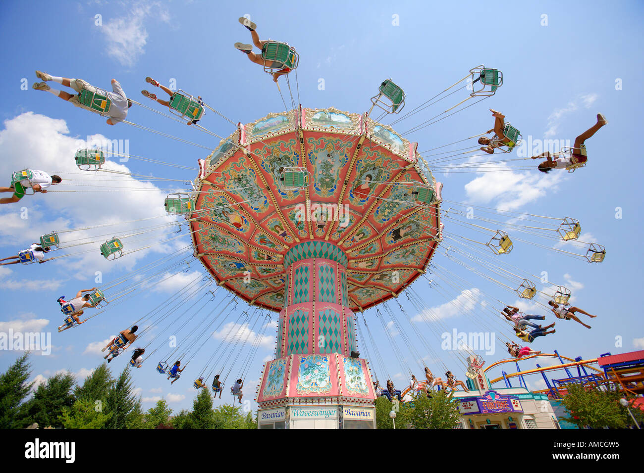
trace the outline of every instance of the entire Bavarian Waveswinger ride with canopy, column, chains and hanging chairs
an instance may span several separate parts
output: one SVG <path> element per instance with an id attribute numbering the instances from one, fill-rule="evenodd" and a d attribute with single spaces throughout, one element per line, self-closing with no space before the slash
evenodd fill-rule
<path id="1" fill-rule="evenodd" d="M 380 394 L 374 389 L 373 380 L 378 378 L 375 372 L 392 376 L 386 371 L 366 311 L 374 316 L 370 321 L 377 320 L 383 326 L 395 361 L 406 367 L 410 375 L 412 369 L 393 340 L 392 326 L 421 369 L 422 360 L 429 354 L 439 360 L 446 375 L 451 375 L 437 353 L 436 343 L 429 339 L 433 336 L 440 340 L 442 333 L 451 330 L 428 307 L 427 288 L 492 333 L 501 327 L 497 337 L 501 342 L 510 337 L 506 335 L 509 332 L 506 320 L 499 316 L 506 302 L 467 290 L 475 288 L 475 284 L 455 273 L 453 267 L 448 267 L 450 264 L 547 309 L 545 301 L 567 304 L 571 292 L 542 275 L 510 264 L 509 255 L 515 245 L 533 245 L 589 263 L 601 263 L 605 258 L 603 246 L 578 240 L 581 225 L 576 219 L 444 200 L 442 183 L 435 180 L 434 174 L 524 169 L 508 164 L 518 159 L 497 158 L 495 162 L 493 156 L 471 154 L 480 151 L 475 143 L 437 152 L 481 135 L 422 153 L 418 151 L 419 144 L 407 138 L 493 97 L 503 85 L 501 71 L 483 65 L 472 68 L 435 97 L 391 124 L 384 124 L 384 118 L 401 113 L 409 100 L 392 79 L 381 82 L 365 113 L 334 107 L 309 108 L 298 105 L 291 90 L 290 73 L 295 72 L 297 84 L 296 50 L 287 43 L 268 41 L 261 57 L 265 72 L 285 75 L 292 107 L 247 124 L 238 122 L 227 137 L 196 124 L 204 117 L 206 108 L 223 115 L 182 90 L 171 95 L 171 115 L 131 101 L 176 121 L 187 120 L 194 124 L 193 129 L 220 139 L 214 150 L 198 145 L 208 149 L 209 154 L 196 156 L 199 160 L 196 178 L 194 175 L 184 180 L 159 178 L 187 185 L 187 189 L 176 189 L 176 184 L 167 189 L 171 192 L 158 203 L 158 209 L 163 207 L 165 214 L 57 230 L 40 237 L 43 247 L 55 252 L 68 251 L 53 259 L 77 254 L 74 253 L 77 246 L 91 245 L 93 249 L 81 254 L 98 248 L 109 261 L 190 237 L 189 244 L 175 254 L 93 291 L 91 304 L 101 310 L 83 321 L 111 310 L 155 284 L 185 274 L 196 259 L 204 274 L 199 272 L 185 286 L 177 286 L 165 301 L 129 324 L 142 327 L 137 339 L 145 340 L 146 350 L 151 348 L 145 353 L 146 359 L 154 360 L 156 371 L 167 380 L 173 383 L 179 380 L 200 349 L 216 338 L 218 344 L 209 348 L 211 354 L 194 378 L 194 389 L 207 389 L 209 380 L 213 380 L 213 393 L 225 392 L 233 369 L 238 370 L 234 375 L 241 375 L 243 384 L 267 329 L 276 326 L 274 358 L 263 366 L 256 392 L 258 417 L 272 418 L 275 414 L 287 419 L 286 422 L 290 419 L 292 426 L 306 426 L 310 425 L 307 417 L 315 415 L 314 407 L 324 407 L 330 414 L 316 426 L 373 428 L 374 402 Z M 465 97 L 457 96 L 456 105 L 402 133 L 394 128 L 453 93 Z M 475 100 L 458 108 L 471 99 Z M 110 107 L 109 99 L 97 93 L 84 91 L 80 102 L 101 115 Z M 379 109 L 381 115 L 372 118 L 374 109 Z M 194 144 L 128 120 L 124 123 Z M 503 131 L 509 141 L 498 147 L 502 154 L 510 154 L 522 136 L 509 123 Z M 477 156 L 484 156 L 485 161 L 477 162 Z M 109 157 L 110 153 L 101 149 L 88 148 L 79 149 L 74 160 L 81 171 L 128 174 L 111 169 Z M 194 171 L 185 165 L 142 156 L 128 158 Z M 585 162 L 573 162 L 569 172 L 583 165 Z M 30 180 L 30 172 L 29 169 L 14 172 L 12 183 L 20 185 L 21 181 Z M 140 181 L 157 179 L 128 176 Z M 468 214 L 472 208 L 476 209 L 474 218 Z M 179 216 L 183 219 L 173 220 Z M 142 226 L 142 221 L 153 219 L 158 219 L 157 225 Z M 466 228 L 468 236 L 445 232 L 448 224 L 450 230 Z M 105 231 L 109 233 L 101 233 Z M 73 236 L 73 232 L 80 236 Z M 173 236 L 175 233 L 178 235 Z M 138 241 L 144 241 L 144 246 L 137 245 Z M 31 257 L 20 255 L 20 261 L 33 262 L 33 252 Z M 404 299 L 407 308 L 401 304 Z M 477 305 L 480 300 L 488 303 Z M 242 304 L 243 310 L 237 310 L 238 304 Z M 412 317 L 410 307 L 419 315 Z M 70 304 L 64 304 L 62 312 L 66 317 L 59 331 L 79 325 L 72 317 Z M 276 323 L 271 317 L 273 313 L 278 313 Z M 485 317 L 480 317 L 481 314 Z M 403 326 L 401 321 L 405 319 L 408 324 Z M 176 338 L 170 347 L 164 338 L 169 333 Z M 361 357 L 358 351 L 358 335 L 363 340 L 366 357 Z M 412 341 L 414 338 L 422 347 Z M 116 357 L 130 345 L 125 335 L 118 335 L 109 354 Z M 471 345 L 458 348 L 453 355 L 457 362 L 466 367 L 480 362 Z M 480 363 L 478 368 L 482 367 Z M 135 366 L 134 362 L 131 364 Z M 474 381 L 478 376 L 475 371 L 468 371 L 467 376 L 470 388 L 479 389 Z M 421 391 L 433 389 L 430 381 L 421 381 L 417 386 L 415 390 L 411 387 L 403 390 L 405 402 Z M 231 393 L 236 399 L 238 394 L 233 388 Z"/>

